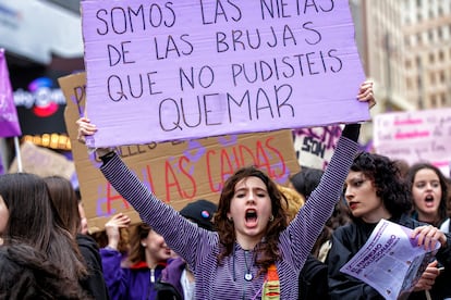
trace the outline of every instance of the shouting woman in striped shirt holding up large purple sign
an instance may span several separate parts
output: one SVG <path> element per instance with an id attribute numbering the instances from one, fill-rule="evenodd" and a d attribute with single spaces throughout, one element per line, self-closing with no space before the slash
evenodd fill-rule
<path id="1" fill-rule="evenodd" d="M 361 86 L 357 100 L 375 104 L 371 82 Z M 97 130 L 86 117 L 77 124 L 82 142 Z M 298 274 L 340 199 L 358 134 L 358 124 L 344 127 L 320 184 L 290 224 L 276 184 L 254 166 L 237 170 L 221 191 L 217 232 L 198 227 L 156 198 L 114 151 L 96 151 L 108 182 L 191 266 L 195 299 L 297 299 Z"/>

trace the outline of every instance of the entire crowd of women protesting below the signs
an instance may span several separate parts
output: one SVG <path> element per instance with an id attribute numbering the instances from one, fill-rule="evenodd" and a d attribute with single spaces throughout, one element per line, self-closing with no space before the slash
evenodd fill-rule
<path id="1" fill-rule="evenodd" d="M 365 82 L 358 101 L 375 103 Z M 78 140 L 96 133 L 77 121 Z M 383 299 L 340 268 L 381 220 L 439 249 L 406 299 L 451 298 L 450 180 L 430 163 L 361 152 L 346 124 L 325 171 L 289 187 L 256 166 L 232 174 L 219 200 L 160 201 L 110 148 L 96 149 L 112 187 L 138 212 L 87 233 L 81 197 L 62 177 L 0 176 L 0 299 Z M 403 278 L 400 278 L 402 280 Z"/>

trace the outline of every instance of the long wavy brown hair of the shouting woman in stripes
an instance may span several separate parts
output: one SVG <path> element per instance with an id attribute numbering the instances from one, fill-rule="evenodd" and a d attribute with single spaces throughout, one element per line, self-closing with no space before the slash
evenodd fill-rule
<path id="1" fill-rule="evenodd" d="M 256 166 L 246 166 L 237 170 L 224 183 L 219 198 L 218 212 L 215 214 L 215 225 L 217 226 L 219 241 L 222 246 L 218 261 L 221 262 L 224 257 L 230 255 L 233 251 L 236 240 L 235 228 L 233 222 L 228 220 L 227 214 L 230 211 L 236 184 L 247 177 L 258 177 L 265 183 L 272 204 L 272 215 L 275 218 L 272 222 L 269 222 L 266 228 L 265 239 L 255 249 L 257 252 L 255 263 L 260 268 L 259 273 L 266 273 L 268 267 L 280 259 L 278 242 L 280 233 L 288 226 L 287 214 L 283 209 L 287 207 L 288 201 L 278 189 L 276 183 Z"/>

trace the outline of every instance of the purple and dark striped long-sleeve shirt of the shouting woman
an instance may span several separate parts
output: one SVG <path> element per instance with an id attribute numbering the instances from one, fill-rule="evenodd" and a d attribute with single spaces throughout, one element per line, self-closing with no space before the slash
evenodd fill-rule
<path id="1" fill-rule="evenodd" d="M 279 237 L 281 259 L 276 262 L 281 299 L 297 299 L 298 274 L 334 204 L 358 146 L 341 137 L 334 154 L 316 190 L 297 216 Z M 251 263 L 252 251 L 235 245 L 233 254 L 218 263 L 217 233 L 197 227 L 172 207 L 160 201 L 114 154 L 101 167 L 114 189 L 139 213 L 141 218 L 164 237 L 168 246 L 191 266 L 195 279 L 195 299 L 260 299 L 265 275 L 255 278 L 257 266 Z M 254 279 L 247 282 L 244 274 Z"/>

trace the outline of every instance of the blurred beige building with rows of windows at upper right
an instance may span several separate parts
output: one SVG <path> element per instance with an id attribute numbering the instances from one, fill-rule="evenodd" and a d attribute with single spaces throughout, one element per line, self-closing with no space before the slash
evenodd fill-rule
<path id="1" fill-rule="evenodd" d="M 378 110 L 451 107 L 451 0 L 354 0 L 352 4 Z"/>

